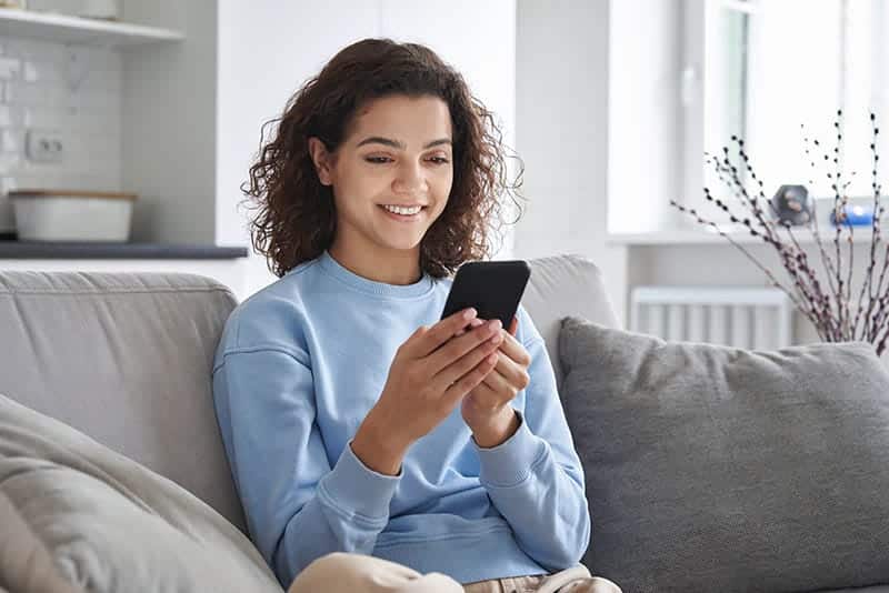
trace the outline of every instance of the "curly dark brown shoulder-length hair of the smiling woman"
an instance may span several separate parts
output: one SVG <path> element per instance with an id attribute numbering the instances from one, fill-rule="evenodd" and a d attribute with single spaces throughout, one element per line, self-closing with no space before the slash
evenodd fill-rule
<path id="1" fill-rule="evenodd" d="M 258 210 L 250 222 L 253 248 L 277 277 L 318 258 L 337 231 L 332 188 L 318 179 L 309 139 L 334 152 L 363 104 L 393 94 L 440 98 L 451 115 L 453 183 L 444 210 L 421 241 L 422 270 L 442 278 L 466 261 L 485 259 L 496 252 L 495 234 L 502 240 L 503 224 L 518 221 L 523 164 L 507 153 L 493 113 L 460 73 L 424 46 L 364 39 L 337 53 L 290 98 L 280 118 L 262 125 L 260 150 L 241 190 Z M 274 123 L 266 142 L 267 127 Z M 512 182 L 507 158 L 518 161 Z M 516 207 L 510 222 L 503 220 L 503 195 Z"/>

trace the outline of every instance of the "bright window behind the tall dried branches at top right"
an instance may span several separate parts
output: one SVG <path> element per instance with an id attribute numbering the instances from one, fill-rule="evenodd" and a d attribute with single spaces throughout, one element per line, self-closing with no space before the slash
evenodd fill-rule
<path id="1" fill-rule="evenodd" d="M 686 111 L 686 133 L 702 129 L 703 149 L 720 154 L 732 135 L 742 138 L 767 198 L 785 183 L 802 183 L 816 197 L 832 198 L 823 154 L 832 159 L 833 121 L 841 109 L 843 178 L 856 172 L 848 194 L 872 195 L 871 111 L 889 132 L 889 44 L 880 42 L 889 31 L 887 4 L 883 0 L 687 2 L 686 10 L 703 11 L 703 109 Z M 699 52 L 700 44 L 688 43 L 687 64 L 696 63 L 689 54 Z M 880 135 L 882 148 L 889 147 L 886 134 Z M 821 141 L 820 148 L 810 144 L 815 169 L 805 154 L 806 137 Z M 889 159 L 882 152 L 883 160 Z M 687 158 L 692 162 L 687 163 L 686 177 L 701 179 L 693 157 Z M 702 180 L 727 194 L 711 167 L 705 167 Z M 686 188 L 692 192 L 686 197 L 690 203 L 703 200 L 688 180 Z"/>

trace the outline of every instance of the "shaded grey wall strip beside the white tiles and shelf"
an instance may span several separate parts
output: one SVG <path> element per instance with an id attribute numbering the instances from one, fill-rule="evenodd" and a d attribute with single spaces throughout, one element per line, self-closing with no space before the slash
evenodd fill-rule
<path id="1" fill-rule="evenodd" d="M 214 241 L 216 10 L 216 0 L 126 0 L 128 21 L 186 36 L 124 51 L 123 183 L 140 197 L 137 240 Z"/>

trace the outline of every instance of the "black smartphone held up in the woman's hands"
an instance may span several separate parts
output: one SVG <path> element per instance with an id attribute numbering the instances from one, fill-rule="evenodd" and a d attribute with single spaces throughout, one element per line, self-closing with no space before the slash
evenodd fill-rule
<path id="1" fill-rule="evenodd" d="M 472 306 L 479 319 L 499 319 L 509 329 L 529 278 L 531 267 L 523 260 L 465 263 L 453 277 L 441 319 Z"/>

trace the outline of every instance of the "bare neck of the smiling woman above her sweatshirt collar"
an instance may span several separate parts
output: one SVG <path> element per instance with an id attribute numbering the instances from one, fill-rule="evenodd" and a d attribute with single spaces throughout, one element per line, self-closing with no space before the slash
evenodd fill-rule
<path id="1" fill-rule="evenodd" d="M 377 245 L 349 249 L 341 241 L 333 241 L 328 252 L 350 272 L 374 282 L 404 287 L 422 278 L 419 245 L 411 250 Z"/>

